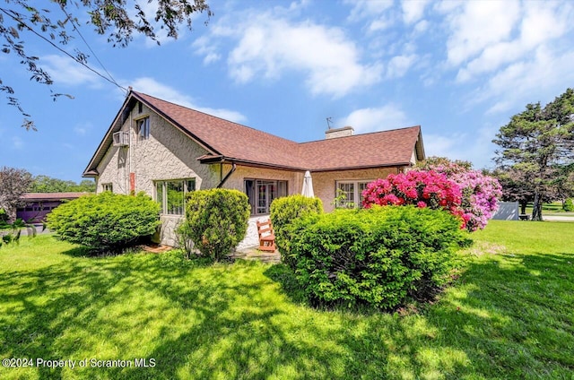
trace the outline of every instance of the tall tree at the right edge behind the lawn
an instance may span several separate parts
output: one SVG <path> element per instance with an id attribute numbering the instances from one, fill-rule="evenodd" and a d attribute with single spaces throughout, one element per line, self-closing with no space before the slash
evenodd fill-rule
<path id="1" fill-rule="evenodd" d="M 498 169 L 514 175 L 515 183 L 529 190 L 532 220 L 542 220 L 542 203 L 552 199 L 568 181 L 563 168 L 574 162 L 574 91 L 567 89 L 544 108 L 540 102 L 511 117 L 492 142 L 500 146 L 494 159 Z"/>

